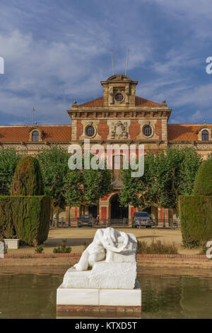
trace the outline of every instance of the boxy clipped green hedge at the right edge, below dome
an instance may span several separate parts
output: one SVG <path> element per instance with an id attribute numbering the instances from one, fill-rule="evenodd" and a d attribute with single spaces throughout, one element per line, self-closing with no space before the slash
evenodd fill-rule
<path id="1" fill-rule="evenodd" d="M 212 196 L 179 196 L 179 215 L 185 247 L 212 239 Z"/>

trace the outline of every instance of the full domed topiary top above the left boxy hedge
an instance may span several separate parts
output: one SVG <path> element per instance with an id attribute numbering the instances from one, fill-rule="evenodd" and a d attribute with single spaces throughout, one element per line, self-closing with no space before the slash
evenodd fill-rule
<path id="1" fill-rule="evenodd" d="M 16 166 L 11 189 L 12 196 L 42 196 L 44 185 L 40 164 L 32 156 L 23 157 Z"/>

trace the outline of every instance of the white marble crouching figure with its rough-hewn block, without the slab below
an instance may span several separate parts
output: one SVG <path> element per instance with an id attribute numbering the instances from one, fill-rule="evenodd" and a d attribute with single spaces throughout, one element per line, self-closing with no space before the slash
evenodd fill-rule
<path id="1" fill-rule="evenodd" d="M 137 240 L 133 234 L 98 229 L 78 264 L 64 275 L 63 288 L 134 289 Z M 91 267 L 92 269 L 89 269 Z"/>

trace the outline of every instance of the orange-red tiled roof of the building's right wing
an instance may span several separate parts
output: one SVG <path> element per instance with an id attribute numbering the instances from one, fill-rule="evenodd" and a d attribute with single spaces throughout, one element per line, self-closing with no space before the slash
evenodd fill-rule
<path id="1" fill-rule="evenodd" d="M 212 125 L 205 125 L 212 129 Z M 198 130 L 204 127 L 203 124 L 167 124 L 168 141 L 196 141 L 198 140 Z"/>

